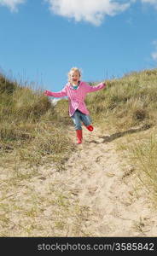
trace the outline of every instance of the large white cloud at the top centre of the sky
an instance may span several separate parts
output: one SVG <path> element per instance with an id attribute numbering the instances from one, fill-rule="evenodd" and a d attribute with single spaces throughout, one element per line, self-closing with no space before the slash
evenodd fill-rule
<path id="1" fill-rule="evenodd" d="M 56 15 L 73 18 L 76 21 L 88 21 L 101 25 L 106 15 L 117 15 L 130 7 L 130 2 L 118 3 L 118 0 L 44 0 Z M 120 1 L 122 2 L 122 1 Z"/>

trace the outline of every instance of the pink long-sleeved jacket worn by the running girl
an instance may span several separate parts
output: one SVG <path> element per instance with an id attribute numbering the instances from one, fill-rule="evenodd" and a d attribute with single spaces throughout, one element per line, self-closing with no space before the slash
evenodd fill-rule
<path id="1" fill-rule="evenodd" d="M 96 86 L 90 86 L 83 81 L 80 81 L 78 89 L 73 90 L 73 86 L 70 83 L 67 83 L 66 86 L 58 92 L 52 92 L 47 90 L 47 96 L 54 97 L 63 97 L 67 96 L 69 100 L 69 115 L 72 116 L 75 110 L 78 108 L 82 113 L 89 114 L 88 109 L 85 106 L 84 98 L 87 93 L 101 90 L 106 87 L 106 84 L 98 84 Z"/>

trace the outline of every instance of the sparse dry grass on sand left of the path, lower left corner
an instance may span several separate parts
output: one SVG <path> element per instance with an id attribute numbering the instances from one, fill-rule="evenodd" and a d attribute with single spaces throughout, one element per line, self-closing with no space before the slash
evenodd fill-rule
<path id="1" fill-rule="evenodd" d="M 93 212 L 50 174 L 56 169 L 10 171 L 1 170 L 0 236 L 90 236 Z"/>

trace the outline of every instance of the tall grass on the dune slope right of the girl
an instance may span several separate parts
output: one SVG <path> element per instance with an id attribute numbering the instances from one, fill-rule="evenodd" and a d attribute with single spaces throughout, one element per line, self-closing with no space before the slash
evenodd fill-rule
<path id="1" fill-rule="evenodd" d="M 107 81 L 107 90 L 90 95 L 87 104 L 96 123 L 117 130 L 156 125 L 157 69 Z"/>

